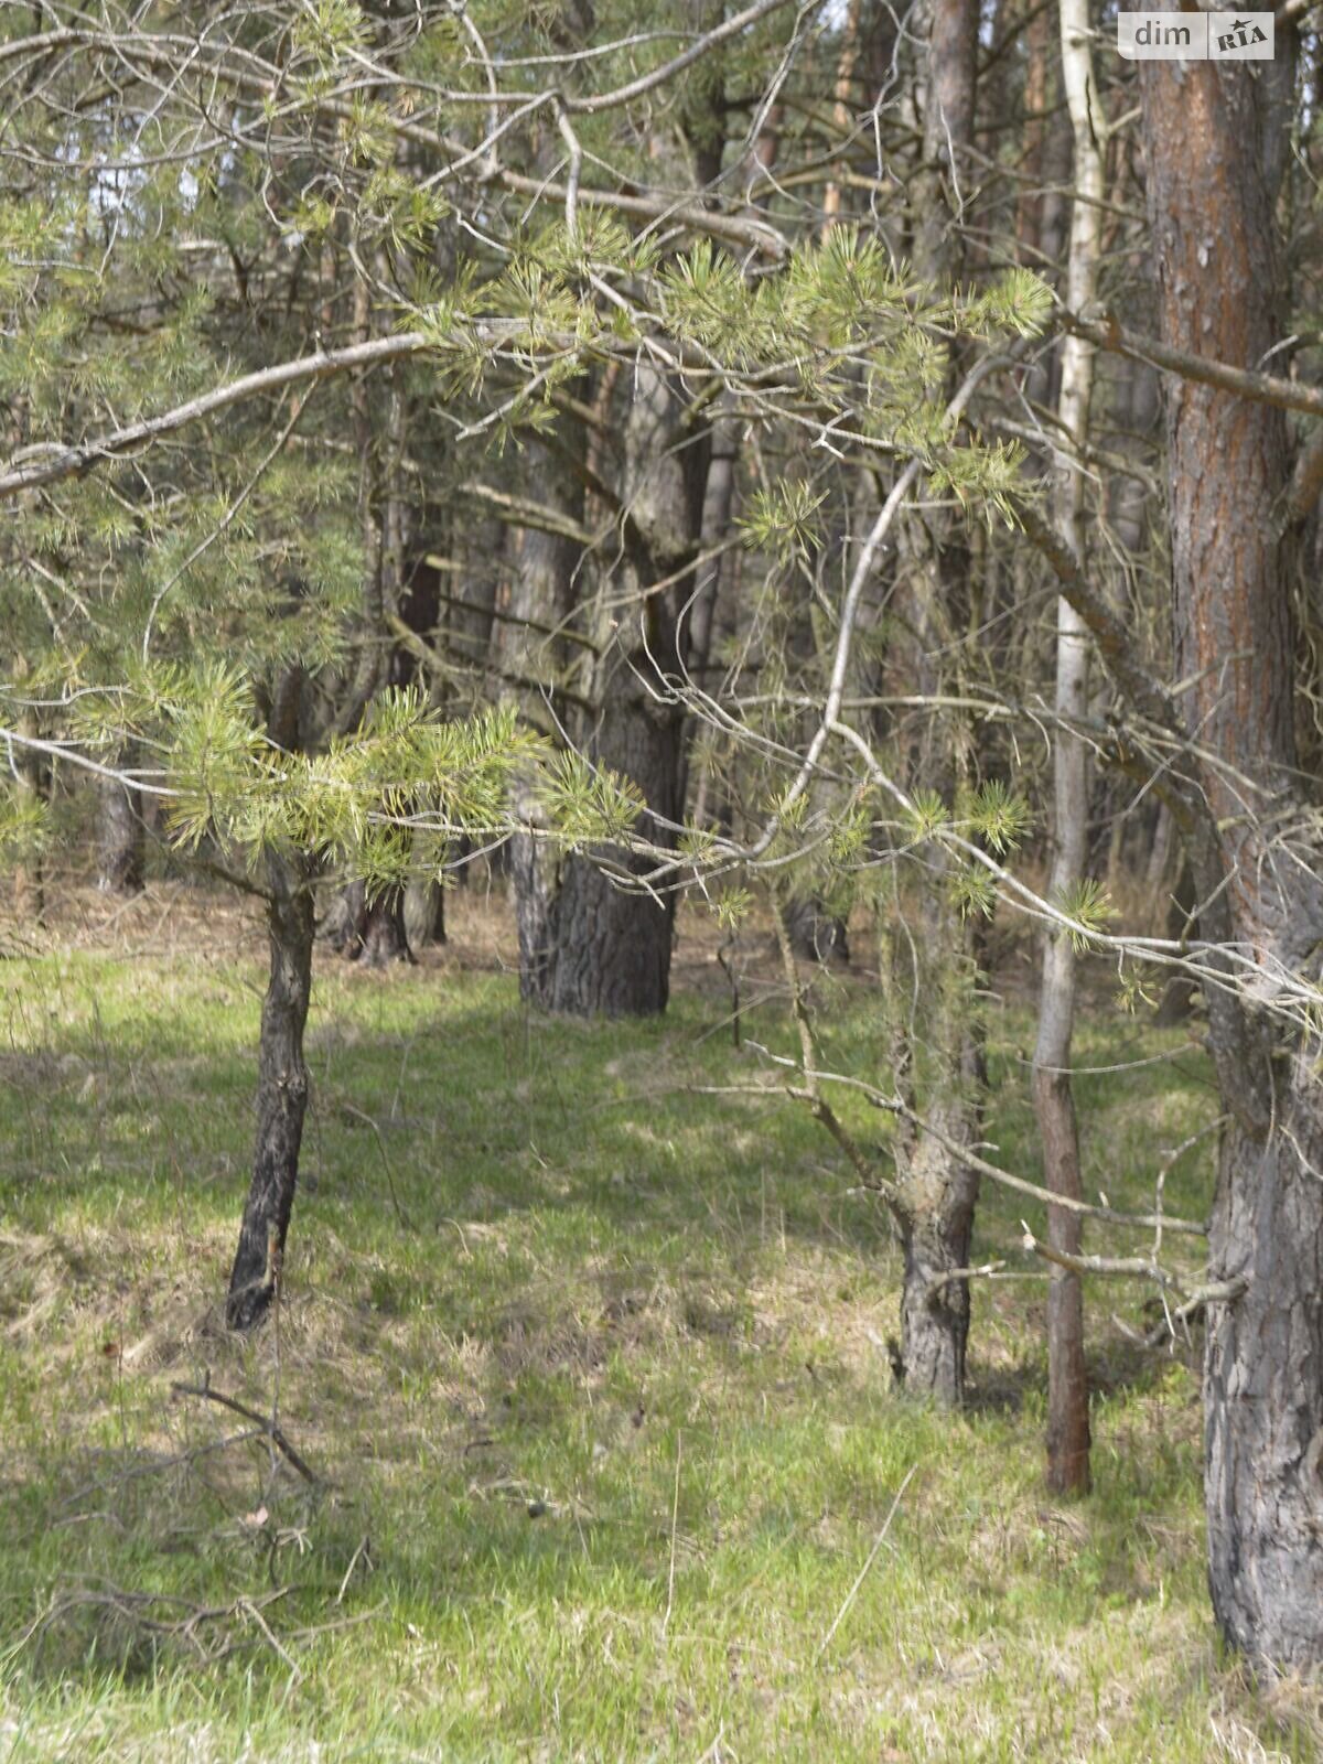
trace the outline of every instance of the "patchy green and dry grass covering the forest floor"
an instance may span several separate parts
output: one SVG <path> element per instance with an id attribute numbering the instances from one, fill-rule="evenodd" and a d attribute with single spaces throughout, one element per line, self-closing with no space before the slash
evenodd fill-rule
<path id="1" fill-rule="evenodd" d="M 1148 1291 L 1088 1293 L 1095 1491 L 1058 1505 L 1041 1281 L 977 1282 L 967 1413 L 894 1392 L 877 1200 L 801 1106 L 695 1088 L 759 1071 L 706 921 L 658 1023 L 531 1018 L 499 900 L 452 894 L 450 930 L 385 975 L 319 956 L 250 1344 L 219 1298 L 256 916 L 161 884 L 0 938 L 0 1760 L 1316 1755 L 1318 1702 L 1219 1656 L 1198 1342 L 1113 1321 Z M 988 1140 L 1034 1177 L 1028 958 L 1002 967 Z M 744 1032 L 790 1051 L 773 975 L 753 949 Z M 1189 1030 L 1097 988 L 1080 1062 L 1150 1064 L 1080 1080 L 1087 1184 L 1147 1207 L 1214 1092 Z M 868 1071 L 866 963 L 815 1002 Z M 1208 1145 L 1171 1212 L 1207 1208 Z M 984 1191 L 975 1259 L 1023 1267 L 1021 1217 Z M 171 1388 L 208 1378 L 279 1395 L 316 1484 Z"/>

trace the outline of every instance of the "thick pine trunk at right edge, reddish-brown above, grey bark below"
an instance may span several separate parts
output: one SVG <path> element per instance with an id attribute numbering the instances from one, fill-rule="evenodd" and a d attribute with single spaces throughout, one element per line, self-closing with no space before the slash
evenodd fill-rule
<path id="1" fill-rule="evenodd" d="M 1289 53 L 1261 79 L 1215 62 L 1140 72 L 1162 340 L 1235 367 L 1281 337 L 1275 92 L 1288 76 Z M 1265 1009 L 1284 975 L 1318 974 L 1323 938 L 1316 792 L 1295 769 L 1286 423 L 1185 379 L 1166 402 L 1175 669 L 1191 683 L 1207 804 L 1191 838 L 1201 933 L 1254 961 L 1235 993 L 1205 988 L 1230 1117 L 1210 1272 L 1245 1282 L 1208 1307 L 1208 1579 L 1230 1642 L 1309 1669 L 1323 1663 L 1323 1090 L 1316 1032 Z"/>

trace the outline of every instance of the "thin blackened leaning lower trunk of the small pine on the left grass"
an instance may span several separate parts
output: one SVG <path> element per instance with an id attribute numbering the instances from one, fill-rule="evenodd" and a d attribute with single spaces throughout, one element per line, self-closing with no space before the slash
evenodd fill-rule
<path id="1" fill-rule="evenodd" d="M 303 1027 L 312 990 L 312 887 L 298 861 L 272 856 L 266 871 L 270 977 L 261 1007 L 252 1185 L 226 1300 L 226 1323 L 233 1330 L 256 1328 L 275 1295 L 309 1095 Z"/>

